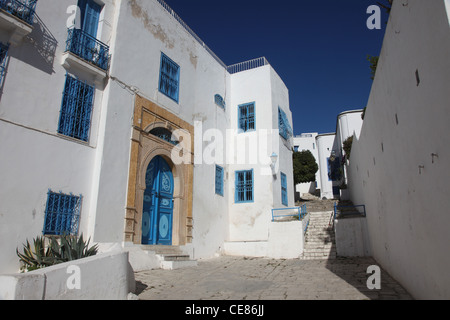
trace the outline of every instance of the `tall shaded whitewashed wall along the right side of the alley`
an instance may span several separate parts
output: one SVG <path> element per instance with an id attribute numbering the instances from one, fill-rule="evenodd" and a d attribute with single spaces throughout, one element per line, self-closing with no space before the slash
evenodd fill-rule
<path id="1" fill-rule="evenodd" d="M 374 258 L 419 299 L 450 298 L 449 4 L 394 1 L 349 166 Z"/>

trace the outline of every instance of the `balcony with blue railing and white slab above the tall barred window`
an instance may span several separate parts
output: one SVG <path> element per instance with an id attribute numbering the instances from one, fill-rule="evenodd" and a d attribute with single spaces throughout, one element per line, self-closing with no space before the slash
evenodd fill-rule
<path id="1" fill-rule="evenodd" d="M 62 65 L 90 74 L 98 83 L 106 78 L 109 69 L 109 46 L 81 29 L 68 29 L 66 51 Z"/>

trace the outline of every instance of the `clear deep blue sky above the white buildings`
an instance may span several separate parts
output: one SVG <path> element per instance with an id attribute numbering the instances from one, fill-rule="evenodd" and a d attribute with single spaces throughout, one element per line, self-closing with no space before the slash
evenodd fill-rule
<path id="1" fill-rule="evenodd" d="M 377 0 L 165 1 L 225 64 L 269 60 L 289 89 L 296 135 L 334 132 L 339 113 L 366 106 L 366 56 L 380 53 L 387 21 L 382 10 L 382 29 L 366 27 Z"/>

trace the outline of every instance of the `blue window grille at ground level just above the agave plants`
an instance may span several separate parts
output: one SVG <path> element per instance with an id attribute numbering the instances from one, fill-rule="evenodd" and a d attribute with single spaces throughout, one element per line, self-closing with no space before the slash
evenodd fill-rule
<path id="1" fill-rule="evenodd" d="M 45 206 L 45 235 L 77 235 L 80 223 L 82 196 L 47 193 Z"/>

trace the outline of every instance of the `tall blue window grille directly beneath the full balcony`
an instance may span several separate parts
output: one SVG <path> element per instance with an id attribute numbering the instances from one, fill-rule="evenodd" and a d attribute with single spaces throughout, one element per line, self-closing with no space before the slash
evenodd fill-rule
<path id="1" fill-rule="evenodd" d="M 58 133 L 87 142 L 91 126 L 94 87 L 66 75 Z"/>

